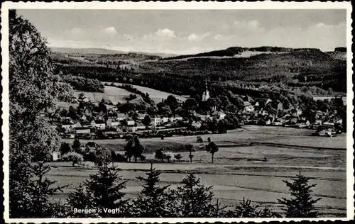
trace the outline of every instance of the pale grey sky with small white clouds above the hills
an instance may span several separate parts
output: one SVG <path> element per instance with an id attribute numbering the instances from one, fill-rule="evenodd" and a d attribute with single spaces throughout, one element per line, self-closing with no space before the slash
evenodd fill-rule
<path id="1" fill-rule="evenodd" d="M 26 9 L 50 47 L 194 54 L 226 47 L 346 46 L 346 10 Z"/>

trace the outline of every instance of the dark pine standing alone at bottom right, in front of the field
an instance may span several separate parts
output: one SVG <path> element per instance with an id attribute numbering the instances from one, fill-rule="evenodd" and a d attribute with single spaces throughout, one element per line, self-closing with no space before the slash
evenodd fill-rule
<path id="1" fill-rule="evenodd" d="M 296 178 L 291 179 L 293 182 L 283 181 L 290 189 L 293 198 L 281 198 L 278 202 L 285 205 L 283 211 L 286 212 L 287 218 L 316 218 L 318 213 L 315 211 L 315 203 L 321 198 L 313 199 L 310 195 L 312 188 L 317 184 L 308 184 L 310 178 L 304 177 L 301 172 Z"/>

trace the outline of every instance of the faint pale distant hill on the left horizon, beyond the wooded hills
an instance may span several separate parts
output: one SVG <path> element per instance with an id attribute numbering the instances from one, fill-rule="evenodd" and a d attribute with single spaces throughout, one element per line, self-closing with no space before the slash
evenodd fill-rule
<path id="1" fill-rule="evenodd" d="M 94 55 L 116 55 L 116 54 L 137 54 L 137 55 L 149 55 L 158 57 L 174 57 L 173 54 L 165 53 L 151 53 L 151 52 L 125 52 L 121 50 L 110 50 L 105 48 L 70 48 L 70 47 L 50 47 L 53 52 L 65 53 L 65 54 L 94 54 Z"/>

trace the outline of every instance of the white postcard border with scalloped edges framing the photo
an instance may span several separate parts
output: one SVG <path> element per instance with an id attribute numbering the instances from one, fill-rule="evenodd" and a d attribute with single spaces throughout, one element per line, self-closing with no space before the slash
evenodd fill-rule
<path id="1" fill-rule="evenodd" d="M 346 9 L 346 47 L 347 47 L 347 93 L 346 93 L 346 113 L 347 128 L 346 133 L 346 218 L 9 218 L 9 9 Z M 234 222 L 253 221 L 256 223 L 264 221 L 302 221 L 302 220 L 352 220 L 354 219 L 354 139 L 353 139 L 353 98 L 352 91 L 352 36 L 351 36 L 351 2 L 17 2 L 5 1 L 1 6 L 1 56 L 2 56 L 2 120 L 1 127 L 3 133 L 3 172 L 4 172 L 4 220 L 6 223 L 98 223 L 98 222 Z"/>

